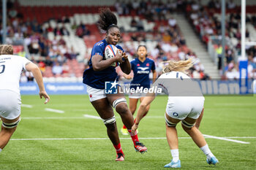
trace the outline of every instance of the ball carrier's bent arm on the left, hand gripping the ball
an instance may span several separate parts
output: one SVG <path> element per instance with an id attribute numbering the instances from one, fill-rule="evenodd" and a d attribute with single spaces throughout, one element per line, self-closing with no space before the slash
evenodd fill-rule
<path id="1" fill-rule="evenodd" d="M 114 62 L 121 62 L 122 55 L 121 53 L 116 52 L 116 57 L 109 58 L 108 60 L 103 60 L 102 55 L 93 55 L 91 58 L 91 64 L 94 71 L 102 71 L 107 69 Z"/>

